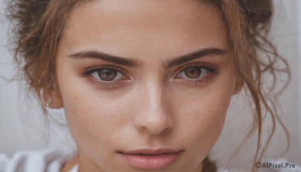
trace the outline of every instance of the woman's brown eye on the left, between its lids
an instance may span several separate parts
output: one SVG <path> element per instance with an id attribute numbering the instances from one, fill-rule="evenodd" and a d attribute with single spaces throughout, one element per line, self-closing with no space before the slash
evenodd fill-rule
<path id="1" fill-rule="evenodd" d="M 102 68 L 93 73 L 92 76 L 100 81 L 115 81 L 123 78 L 123 74 L 115 69 Z"/>

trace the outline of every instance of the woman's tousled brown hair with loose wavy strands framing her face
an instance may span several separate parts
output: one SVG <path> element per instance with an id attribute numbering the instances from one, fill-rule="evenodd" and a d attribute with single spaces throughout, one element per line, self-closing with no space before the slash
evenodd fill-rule
<path id="1" fill-rule="evenodd" d="M 78 3 L 86 1 L 60 0 L 12 0 L 9 6 L 11 20 L 17 22 L 15 27 L 15 61 L 21 66 L 30 90 L 34 90 L 43 111 L 45 95 L 50 94 L 55 80 L 56 48 L 68 14 Z M 203 0 L 204 1 L 204 0 Z M 260 161 L 275 130 L 276 120 L 279 121 L 287 136 L 288 132 L 279 119 L 275 108 L 276 97 L 286 88 L 290 80 L 290 71 L 286 61 L 277 54 L 274 46 L 267 40 L 272 16 L 271 0 L 210 0 L 206 1 L 220 10 L 228 29 L 229 43 L 233 53 L 233 67 L 238 78 L 238 87 L 243 86 L 246 99 L 252 112 L 252 126 L 241 144 L 231 155 L 237 154 L 245 143 L 256 132 L 257 148 L 254 164 Z M 258 55 L 263 53 L 263 56 Z M 284 68 L 276 68 L 278 63 Z M 275 92 L 277 73 L 288 75 L 288 81 L 280 91 Z M 272 76 L 272 84 L 263 88 L 264 74 Z M 273 96 L 271 96 L 273 93 Z M 263 119 L 269 115 L 272 125 L 268 138 L 262 139 Z M 286 150 L 287 150 L 286 149 Z M 231 159 L 229 158 L 229 159 Z M 215 165 L 206 158 L 203 171 L 216 170 Z M 252 171 L 256 171 L 253 165 Z"/>

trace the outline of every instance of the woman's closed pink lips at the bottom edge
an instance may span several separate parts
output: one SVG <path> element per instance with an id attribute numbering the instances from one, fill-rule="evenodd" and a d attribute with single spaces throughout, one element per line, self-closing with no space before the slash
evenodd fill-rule
<path id="1" fill-rule="evenodd" d="M 174 163 L 183 150 L 172 149 L 138 149 L 119 151 L 125 161 L 138 169 L 164 169 Z"/>

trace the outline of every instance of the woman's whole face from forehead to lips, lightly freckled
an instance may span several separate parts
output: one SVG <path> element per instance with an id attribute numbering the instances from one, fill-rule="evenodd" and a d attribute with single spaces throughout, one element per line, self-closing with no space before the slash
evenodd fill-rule
<path id="1" fill-rule="evenodd" d="M 56 77 L 80 171 L 201 171 L 235 92 L 226 27 L 197 0 L 92 1 Z"/>

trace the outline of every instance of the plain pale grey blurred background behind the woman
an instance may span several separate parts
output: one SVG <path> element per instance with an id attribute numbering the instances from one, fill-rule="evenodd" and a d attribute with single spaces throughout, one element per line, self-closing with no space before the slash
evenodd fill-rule
<path id="1" fill-rule="evenodd" d="M 279 99 L 280 118 L 290 133 L 290 147 L 286 154 L 286 137 L 278 125 L 265 158 L 284 157 L 301 165 L 301 1 L 274 0 L 274 16 L 270 40 L 290 65 L 292 80 Z M 5 0 L 0 0 L 0 152 L 12 156 L 21 150 L 59 148 L 75 150 L 63 110 L 52 110 L 53 118 L 47 121 L 32 95 L 26 94 L 24 82 L 9 80 L 16 71 L 9 52 L 9 22 L 6 21 Z M 223 164 L 242 141 L 251 120 L 244 107 L 242 94 L 232 98 L 224 130 L 214 146 L 211 157 Z M 255 152 L 255 137 L 247 142 L 234 157 L 231 165 L 249 170 Z"/>

